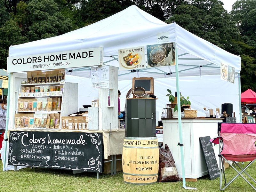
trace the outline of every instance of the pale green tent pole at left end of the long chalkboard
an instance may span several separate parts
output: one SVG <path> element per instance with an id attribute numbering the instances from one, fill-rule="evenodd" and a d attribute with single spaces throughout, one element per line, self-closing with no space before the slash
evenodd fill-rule
<path id="1" fill-rule="evenodd" d="M 5 165 L 6 165 L 6 150 L 7 150 L 7 132 L 8 132 L 8 125 L 9 125 L 9 112 L 10 112 L 10 84 L 11 84 L 11 76 L 13 76 L 13 73 L 8 74 L 8 91 L 7 91 L 7 111 L 6 111 L 6 125 L 5 125 L 5 133 L 4 133 L 4 141 L 5 141 L 5 147 L 4 147 L 4 165 L 3 165 L 3 171 L 5 171 Z"/>

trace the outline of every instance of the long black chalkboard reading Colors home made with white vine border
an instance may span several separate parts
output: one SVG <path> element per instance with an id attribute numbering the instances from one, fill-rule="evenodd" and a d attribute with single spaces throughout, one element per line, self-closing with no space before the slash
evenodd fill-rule
<path id="1" fill-rule="evenodd" d="M 102 133 L 10 132 L 9 165 L 103 172 Z"/>

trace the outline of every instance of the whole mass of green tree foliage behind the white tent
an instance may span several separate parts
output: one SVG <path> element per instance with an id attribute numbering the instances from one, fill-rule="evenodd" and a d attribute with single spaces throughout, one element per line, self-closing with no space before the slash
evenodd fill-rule
<path id="1" fill-rule="evenodd" d="M 136 5 L 166 23 L 241 56 L 241 89 L 256 91 L 256 1 L 238 0 L 0 0 L 0 62 L 10 45 L 58 36 Z"/>

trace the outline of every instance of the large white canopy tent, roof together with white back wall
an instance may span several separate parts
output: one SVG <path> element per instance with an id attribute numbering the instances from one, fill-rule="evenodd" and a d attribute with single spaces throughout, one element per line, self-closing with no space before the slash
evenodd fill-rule
<path id="1" fill-rule="evenodd" d="M 118 49 L 158 44 L 157 34 L 159 33 L 167 34 L 168 42 L 175 43 L 176 65 L 118 71 L 118 80 L 126 80 L 119 82 L 123 95 L 128 88 L 131 88 L 132 77 L 152 76 L 155 79 L 161 78 L 154 83 L 155 90 L 158 89 L 154 94 L 164 104 L 168 102 L 167 97 L 164 97 L 167 94 L 166 90 L 175 89 L 175 82 L 177 92 L 180 92 L 179 77 L 182 77 L 180 82 L 182 95 L 190 96 L 192 106 L 197 102 L 195 109 L 202 110 L 203 107 L 208 106 L 219 108 L 220 102 L 231 102 L 228 99 L 232 97 L 236 114 L 240 116 L 240 57 L 191 34 L 176 23 L 166 24 L 134 5 L 104 20 L 64 35 L 11 46 L 9 58 L 102 47 L 104 64 L 118 67 Z M 235 68 L 235 77 L 238 80 L 235 84 L 220 80 L 220 62 Z M 66 74 L 90 78 L 91 70 L 90 67 L 69 68 L 66 69 Z M 176 81 L 172 77 L 176 77 Z M 220 88 L 221 86 L 223 88 Z M 125 98 L 123 102 L 124 100 Z M 178 107 L 179 105 L 178 101 Z M 180 115 L 179 128 L 180 143 L 183 143 Z M 181 147 L 181 153 L 183 153 L 183 147 Z M 184 166 L 183 155 L 181 157 Z M 185 187 L 184 172 L 183 177 L 183 187 Z"/>

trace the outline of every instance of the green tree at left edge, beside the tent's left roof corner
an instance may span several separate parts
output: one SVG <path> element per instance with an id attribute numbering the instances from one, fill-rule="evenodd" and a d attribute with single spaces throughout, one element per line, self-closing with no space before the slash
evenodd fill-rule
<path id="1" fill-rule="evenodd" d="M 0 28 L 0 64 L 7 69 L 8 49 L 11 45 L 27 43 L 28 39 L 21 35 L 21 28 L 14 20 L 8 20 Z"/>

